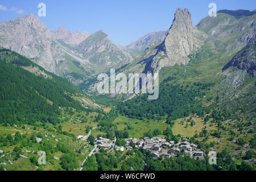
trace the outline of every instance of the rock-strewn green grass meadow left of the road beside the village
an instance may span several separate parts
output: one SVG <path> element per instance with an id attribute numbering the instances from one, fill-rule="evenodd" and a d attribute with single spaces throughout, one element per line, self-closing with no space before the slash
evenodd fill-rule
<path id="1" fill-rule="evenodd" d="M 51 125 L 49 123 L 46 124 L 46 126 Z M 89 123 L 80 123 L 77 122 L 76 125 L 73 124 L 73 122 L 65 122 L 65 123 L 61 123 L 61 126 L 63 126 L 63 130 L 65 130 L 65 128 L 69 129 L 70 127 L 73 129 L 73 132 L 76 134 L 79 134 L 80 128 L 84 128 L 85 130 L 85 126 L 86 125 L 91 125 L 91 126 L 96 126 L 97 123 L 94 122 L 90 122 Z M 84 161 L 84 159 L 86 158 L 86 156 L 88 156 L 89 152 L 92 151 L 93 146 L 90 146 L 88 144 L 88 142 L 85 141 L 81 141 L 81 140 L 74 140 L 71 137 L 68 137 L 66 135 L 62 135 L 59 133 L 56 133 L 56 130 L 53 131 L 46 131 L 46 129 L 43 129 L 42 127 L 36 127 L 36 130 L 34 130 L 34 126 L 30 126 L 30 125 L 24 125 L 26 127 L 26 129 L 23 129 L 22 126 L 18 127 L 14 127 L 14 126 L 7 126 L 7 127 L 0 127 L 0 135 L 3 137 L 6 137 L 6 135 L 8 134 L 12 134 L 15 135 L 15 133 L 17 131 L 19 131 L 21 134 L 27 134 L 27 138 L 30 138 L 32 134 L 38 135 L 39 133 L 42 134 L 42 141 L 45 142 L 46 140 L 49 142 L 49 144 L 51 144 L 51 146 L 56 146 L 56 144 L 58 142 L 64 143 L 65 146 L 67 148 L 69 148 L 69 150 L 75 152 L 76 154 L 76 159 L 77 159 L 77 163 L 79 164 L 79 167 L 76 168 L 75 170 L 79 170 L 81 167 L 82 162 Z M 30 129 L 27 129 L 30 128 Z M 51 129 L 53 129 L 53 126 L 51 126 Z M 85 134 L 85 131 L 82 130 Z M 70 132 L 69 132 L 70 133 Z M 47 134 L 47 135 L 46 135 Z M 52 137 L 52 135 L 54 135 L 55 137 Z M 56 140 L 57 139 L 57 140 Z M 26 140 L 26 139 L 25 139 Z M 35 171 L 37 168 L 35 166 L 35 164 L 31 163 L 30 159 L 26 159 L 26 158 L 22 158 L 19 157 L 18 160 L 15 159 L 15 152 L 14 147 L 15 146 L 21 146 L 20 143 L 15 144 L 13 146 L 11 145 L 7 145 L 7 146 L 1 146 L 0 149 L 3 150 L 3 152 L 10 152 L 10 154 L 4 156 L 3 158 L 0 159 L 0 163 L 6 163 L 6 165 L 2 165 L 4 168 L 6 168 L 7 170 L 22 170 L 22 171 Z M 23 146 L 21 147 L 23 152 L 21 152 L 22 155 L 31 158 L 31 156 L 36 156 L 36 158 L 39 158 L 38 155 L 36 154 L 32 154 L 32 152 L 26 152 L 26 150 L 28 151 L 35 151 L 38 152 L 40 149 L 40 143 L 32 143 L 32 146 Z M 78 153 L 77 151 L 80 150 L 80 148 L 82 148 L 81 152 L 82 153 Z M 61 156 L 63 155 L 63 152 L 57 151 L 54 152 L 52 154 L 52 156 L 56 156 L 58 158 L 61 158 Z M 13 164 L 11 164 L 13 163 Z M 53 170 L 63 170 L 61 168 L 60 165 L 61 160 L 56 160 L 56 159 L 49 159 L 47 160 L 46 165 L 43 166 L 44 170 L 47 171 L 53 171 Z"/>

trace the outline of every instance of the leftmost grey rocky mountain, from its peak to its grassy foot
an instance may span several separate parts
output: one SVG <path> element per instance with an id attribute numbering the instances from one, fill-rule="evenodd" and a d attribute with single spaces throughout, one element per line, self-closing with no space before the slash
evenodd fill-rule
<path id="1" fill-rule="evenodd" d="M 74 84 L 89 76 L 90 65 L 64 49 L 33 14 L 1 22 L 0 46 L 28 57 L 49 72 L 69 78 Z"/>

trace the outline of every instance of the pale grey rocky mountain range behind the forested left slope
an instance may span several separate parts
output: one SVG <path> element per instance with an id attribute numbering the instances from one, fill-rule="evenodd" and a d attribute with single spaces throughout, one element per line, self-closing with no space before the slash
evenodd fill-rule
<path id="1" fill-rule="evenodd" d="M 63 26 L 51 31 L 32 13 L 0 23 L 0 46 L 28 57 L 75 85 L 132 60 L 102 31 L 93 35 L 74 33 Z"/>

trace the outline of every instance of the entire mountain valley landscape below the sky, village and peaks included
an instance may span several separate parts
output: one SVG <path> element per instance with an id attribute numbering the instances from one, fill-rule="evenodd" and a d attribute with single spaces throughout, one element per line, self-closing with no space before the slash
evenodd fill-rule
<path id="1" fill-rule="evenodd" d="M 0 170 L 254 171 L 256 10 L 192 16 L 128 46 L 31 13 L 1 22 Z M 158 73 L 159 98 L 99 94 L 110 69 Z"/>

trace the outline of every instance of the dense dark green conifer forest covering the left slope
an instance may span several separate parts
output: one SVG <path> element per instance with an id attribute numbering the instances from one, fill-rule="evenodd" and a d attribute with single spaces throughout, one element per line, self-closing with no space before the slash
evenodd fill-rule
<path id="1" fill-rule="evenodd" d="M 24 67 L 36 67 L 45 75 L 36 76 Z M 85 110 L 72 98 L 79 89 L 8 49 L 0 49 L 0 80 L 0 123 L 56 124 L 61 107 Z"/>

